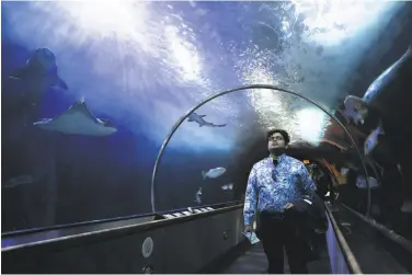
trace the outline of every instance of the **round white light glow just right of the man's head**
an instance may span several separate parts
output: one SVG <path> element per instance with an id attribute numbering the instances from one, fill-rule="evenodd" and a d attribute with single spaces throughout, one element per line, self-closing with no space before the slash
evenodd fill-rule
<path id="1" fill-rule="evenodd" d="M 319 145 L 328 125 L 327 115 L 316 108 L 304 108 L 296 113 L 296 133 L 313 145 Z"/>

